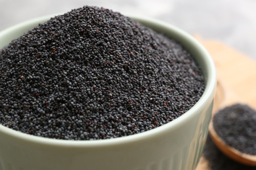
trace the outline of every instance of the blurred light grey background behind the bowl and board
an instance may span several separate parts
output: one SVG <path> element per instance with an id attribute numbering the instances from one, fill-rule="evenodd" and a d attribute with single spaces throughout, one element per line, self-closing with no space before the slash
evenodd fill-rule
<path id="1" fill-rule="evenodd" d="M 0 31 L 47 14 L 93 5 L 157 18 L 256 59 L 254 0 L 0 0 Z"/>

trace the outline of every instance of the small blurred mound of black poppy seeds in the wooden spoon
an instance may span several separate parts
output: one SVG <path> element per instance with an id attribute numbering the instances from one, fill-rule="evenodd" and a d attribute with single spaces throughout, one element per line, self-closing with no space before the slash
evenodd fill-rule
<path id="1" fill-rule="evenodd" d="M 213 118 L 215 131 L 223 141 L 243 153 L 256 155 L 256 111 L 247 105 L 226 107 Z"/>

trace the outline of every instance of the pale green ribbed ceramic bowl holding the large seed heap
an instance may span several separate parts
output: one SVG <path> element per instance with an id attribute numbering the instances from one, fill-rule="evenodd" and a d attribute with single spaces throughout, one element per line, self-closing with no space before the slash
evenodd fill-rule
<path id="1" fill-rule="evenodd" d="M 202 154 L 215 93 L 211 56 L 191 35 L 173 25 L 131 16 L 176 39 L 198 61 L 205 78 L 200 101 L 179 118 L 156 129 L 101 141 L 64 141 L 35 137 L 0 125 L 1 170 L 192 170 Z M 0 33 L 0 48 L 51 16 L 16 25 Z"/>

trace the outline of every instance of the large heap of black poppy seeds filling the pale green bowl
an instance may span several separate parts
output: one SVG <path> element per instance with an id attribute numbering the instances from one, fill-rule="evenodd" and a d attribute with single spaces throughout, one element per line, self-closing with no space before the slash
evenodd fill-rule
<path id="1" fill-rule="evenodd" d="M 0 123 L 41 137 L 148 131 L 184 114 L 204 88 L 181 44 L 98 7 L 55 16 L 0 52 Z"/>

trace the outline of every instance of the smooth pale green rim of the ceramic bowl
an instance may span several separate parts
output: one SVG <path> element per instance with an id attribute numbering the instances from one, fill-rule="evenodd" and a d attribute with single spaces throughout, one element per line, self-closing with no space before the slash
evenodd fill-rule
<path id="1" fill-rule="evenodd" d="M 0 39 L 3 37 L 6 33 L 10 33 L 12 31 L 15 31 L 19 29 L 20 27 L 28 27 L 28 25 L 31 24 L 39 24 L 41 22 L 45 22 L 49 20 L 50 18 L 53 18 L 54 16 L 57 16 L 58 14 L 51 14 L 47 16 L 41 16 L 39 18 L 34 18 L 32 20 L 28 20 L 26 22 L 22 22 L 20 24 L 16 24 L 12 27 L 9 27 L 7 29 L 4 29 L 0 32 Z M 196 114 L 197 110 L 202 110 L 205 105 L 207 105 L 207 102 L 213 98 L 213 95 L 215 93 L 215 87 L 217 83 L 217 75 L 215 70 L 215 64 L 213 62 L 213 59 L 207 52 L 207 50 L 198 42 L 192 35 L 189 33 L 186 33 L 179 27 L 176 27 L 175 25 L 168 24 L 167 22 L 163 22 L 161 20 L 157 20 L 154 18 L 150 18 L 148 16 L 140 16 L 135 14 L 124 14 L 125 16 L 128 16 L 129 18 L 132 18 L 133 20 L 139 20 L 142 22 L 148 22 L 153 25 L 159 25 L 160 27 L 165 27 L 165 29 L 169 29 L 173 33 L 179 35 L 179 37 L 182 37 L 185 42 L 188 42 L 190 46 L 192 45 L 192 48 L 196 48 L 201 56 L 203 57 L 205 67 L 207 67 L 207 80 L 205 81 L 205 90 L 200 97 L 199 101 L 187 112 L 176 118 L 175 120 L 172 120 L 171 122 L 168 122 L 167 124 L 164 124 L 163 126 L 157 127 L 155 129 L 150 129 L 148 131 L 144 131 L 142 133 L 137 133 L 134 135 L 128 135 L 125 137 L 117 137 L 114 139 L 101 139 L 101 140 L 89 140 L 89 141 L 72 141 L 72 140 L 64 140 L 64 139 L 51 139 L 47 137 L 38 137 L 35 135 L 29 135 L 26 133 L 22 133 L 20 131 L 16 131 L 14 129 L 10 129 L 9 127 L 5 127 L 0 124 L 0 133 L 3 133 L 6 136 L 12 137 L 14 139 L 19 139 L 22 141 L 27 141 L 30 143 L 37 143 L 37 144 L 45 144 L 45 145 L 51 145 L 51 146 L 72 146 L 72 147 L 98 147 L 98 146 L 116 146 L 118 144 L 127 144 L 127 143 L 136 143 L 138 141 L 144 141 L 148 140 L 152 137 L 160 136 L 167 131 L 170 131 L 171 129 L 176 129 L 182 124 L 186 124 L 190 120 L 191 116 L 194 116 Z M 32 27 L 30 28 L 32 29 Z M 182 42 L 181 42 L 182 44 Z M 204 76 L 205 78 L 205 76 Z"/>

